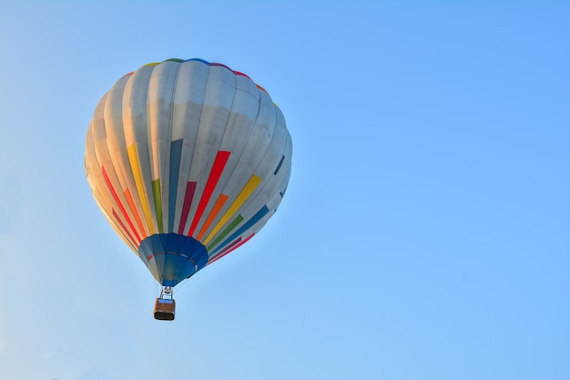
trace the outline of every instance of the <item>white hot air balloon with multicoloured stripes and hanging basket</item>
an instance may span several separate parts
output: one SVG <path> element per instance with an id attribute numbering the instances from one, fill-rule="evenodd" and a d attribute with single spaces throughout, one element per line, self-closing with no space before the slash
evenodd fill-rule
<path id="1" fill-rule="evenodd" d="M 107 221 L 173 288 L 249 241 L 280 205 L 292 142 L 262 87 L 229 67 L 168 59 L 121 77 L 87 129 L 87 181 Z"/>

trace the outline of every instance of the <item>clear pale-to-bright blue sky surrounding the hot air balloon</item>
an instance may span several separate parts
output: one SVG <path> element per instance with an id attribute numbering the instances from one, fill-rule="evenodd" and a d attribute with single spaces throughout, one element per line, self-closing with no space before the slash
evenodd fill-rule
<path id="1" fill-rule="evenodd" d="M 567 380 L 570 3 L 0 1 L 0 378 Z M 127 72 L 242 71 L 290 186 L 177 319 L 87 185 Z"/>

